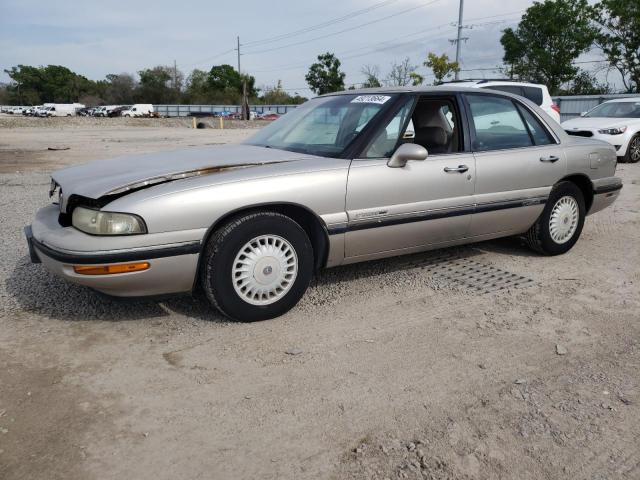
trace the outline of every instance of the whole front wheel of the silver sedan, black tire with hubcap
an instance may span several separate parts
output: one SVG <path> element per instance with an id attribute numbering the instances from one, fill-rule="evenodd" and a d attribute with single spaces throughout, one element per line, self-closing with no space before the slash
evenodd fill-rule
<path id="1" fill-rule="evenodd" d="M 309 237 L 292 219 L 275 212 L 250 213 L 230 220 L 207 241 L 200 283 L 223 315 L 241 322 L 268 320 L 302 298 L 313 275 L 313 258 Z"/>

